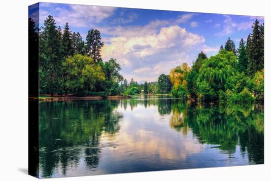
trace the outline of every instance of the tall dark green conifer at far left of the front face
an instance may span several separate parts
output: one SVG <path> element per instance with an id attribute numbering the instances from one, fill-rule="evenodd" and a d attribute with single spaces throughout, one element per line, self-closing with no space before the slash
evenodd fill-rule
<path id="1" fill-rule="evenodd" d="M 44 21 L 40 34 L 40 91 L 53 95 L 61 87 L 63 52 L 61 33 L 53 16 Z"/>

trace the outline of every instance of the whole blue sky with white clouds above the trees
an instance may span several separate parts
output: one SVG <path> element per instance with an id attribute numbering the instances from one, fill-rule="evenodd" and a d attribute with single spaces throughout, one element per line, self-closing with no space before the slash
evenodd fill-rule
<path id="1" fill-rule="evenodd" d="M 264 22 L 259 16 L 79 4 L 40 2 L 29 7 L 39 27 L 48 15 L 62 28 L 68 22 L 71 32 L 79 32 L 84 40 L 90 29 L 98 29 L 104 41 L 103 61 L 116 59 L 124 78 L 138 83 L 157 81 L 160 74 L 183 63 L 192 66 L 201 51 L 208 57 L 217 54 L 228 37 L 238 47 L 256 18 Z"/>

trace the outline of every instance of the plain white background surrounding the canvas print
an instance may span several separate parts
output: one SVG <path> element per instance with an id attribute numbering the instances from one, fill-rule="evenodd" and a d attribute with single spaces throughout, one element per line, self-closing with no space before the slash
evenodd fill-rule
<path id="1" fill-rule="evenodd" d="M 265 164 L 105 176 L 56 181 L 270 180 L 271 5 L 268 0 L 47 0 L 194 12 L 265 16 Z M 28 5 L 36 0 L 1 0 L 0 4 L 0 180 L 36 180 L 28 169 Z M 268 168 L 269 167 L 269 168 Z M 269 177 L 269 178 L 268 178 Z"/>

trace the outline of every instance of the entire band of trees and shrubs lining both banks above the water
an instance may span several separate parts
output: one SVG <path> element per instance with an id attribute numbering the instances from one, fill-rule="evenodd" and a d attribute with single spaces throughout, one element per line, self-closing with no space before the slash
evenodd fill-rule
<path id="1" fill-rule="evenodd" d="M 248 103 L 264 101 L 264 24 L 256 20 L 246 42 L 236 49 L 233 40 L 221 45 L 217 55 L 201 52 L 191 67 L 187 63 L 161 74 L 157 82 L 130 83 L 116 59 L 102 60 L 101 33 L 88 31 L 86 41 L 66 23 L 58 27 L 52 16 L 38 31 L 29 19 L 29 34 L 39 38 L 40 94 L 110 96 L 172 94 L 174 98 L 200 102 Z"/>

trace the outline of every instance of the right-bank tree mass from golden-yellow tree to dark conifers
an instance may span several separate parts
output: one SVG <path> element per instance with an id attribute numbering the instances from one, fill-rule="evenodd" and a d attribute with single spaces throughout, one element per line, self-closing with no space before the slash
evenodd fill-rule
<path id="1" fill-rule="evenodd" d="M 169 72 L 176 98 L 202 102 L 251 103 L 264 101 L 264 24 L 256 20 L 247 41 L 236 49 L 230 38 L 217 55 L 201 52 L 189 68 L 186 63 Z"/>

